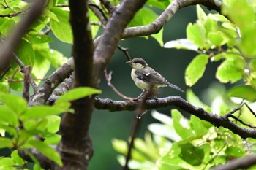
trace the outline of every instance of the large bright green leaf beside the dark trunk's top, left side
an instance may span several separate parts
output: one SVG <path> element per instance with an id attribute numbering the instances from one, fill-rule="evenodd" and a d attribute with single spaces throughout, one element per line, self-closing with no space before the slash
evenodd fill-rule
<path id="1" fill-rule="evenodd" d="M 62 42 L 67 42 L 72 44 L 73 42 L 73 34 L 72 29 L 69 23 L 69 12 L 61 10 L 57 7 L 53 7 L 50 9 L 53 12 L 59 22 L 50 18 L 50 27 L 53 30 L 53 34 Z"/>

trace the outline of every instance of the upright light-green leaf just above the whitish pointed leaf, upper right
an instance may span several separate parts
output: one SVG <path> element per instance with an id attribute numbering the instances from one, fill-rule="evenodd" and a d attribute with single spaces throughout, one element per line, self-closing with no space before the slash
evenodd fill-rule
<path id="1" fill-rule="evenodd" d="M 197 23 L 189 23 L 187 26 L 187 38 L 195 45 L 204 49 L 206 47 L 206 29 Z"/>

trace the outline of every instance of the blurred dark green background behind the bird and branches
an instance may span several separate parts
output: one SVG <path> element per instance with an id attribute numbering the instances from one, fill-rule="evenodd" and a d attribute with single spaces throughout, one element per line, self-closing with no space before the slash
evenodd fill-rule
<path id="1" fill-rule="evenodd" d="M 206 9 L 207 12 L 207 9 Z M 158 12 L 160 14 L 160 12 Z M 180 9 L 176 15 L 164 27 L 164 42 L 174 39 L 186 38 L 186 27 L 189 22 L 195 22 L 197 19 L 195 6 Z M 52 35 L 52 34 L 51 34 Z M 61 51 L 66 56 L 71 55 L 71 46 L 63 42 L 53 42 L 50 44 L 53 49 Z M 153 67 L 157 72 L 162 74 L 169 82 L 178 85 L 183 90 L 187 90 L 184 81 L 184 72 L 197 53 L 186 50 L 165 49 L 160 47 L 155 39 L 131 38 L 121 41 L 122 47 L 129 48 L 129 55 L 132 58 L 144 58 L 148 65 Z M 141 90 L 137 88 L 130 77 L 131 67 L 126 64 L 127 58 L 124 53 L 116 50 L 116 54 L 108 66 L 108 72 L 113 71 L 112 83 L 124 95 L 137 97 Z M 204 89 L 215 81 L 215 72 L 217 63 L 209 63 L 206 73 L 202 79 L 192 87 L 192 90 L 198 95 L 202 95 Z M 100 88 L 102 94 L 100 98 L 111 98 L 113 100 L 123 100 L 110 89 L 102 77 Z M 158 97 L 165 96 L 181 96 L 186 98 L 186 93 L 181 93 L 173 88 L 160 88 Z M 172 107 L 157 109 L 159 112 L 170 115 Z M 143 116 L 142 125 L 140 127 L 140 137 L 146 131 L 149 123 L 156 122 L 151 117 L 151 111 Z M 113 150 L 112 139 L 127 140 L 132 126 L 132 119 L 135 112 L 108 112 L 105 110 L 95 109 L 91 120 L 91 138 L 94 144 L 94 156 L 89 164 L 89 169 L 121 169 L 116 160 L 117 152 Z"/>

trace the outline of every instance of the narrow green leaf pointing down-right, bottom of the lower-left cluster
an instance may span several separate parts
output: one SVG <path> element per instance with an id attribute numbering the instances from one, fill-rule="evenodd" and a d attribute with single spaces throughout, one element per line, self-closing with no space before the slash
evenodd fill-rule
<path id="1" fill-rule="evenodd" d="M 31 140 L 29 142 L 32 146 L 36 147 L 39 152 L 42 152 L 45 157 L 49 158 L 50 160 L 56 162 L 59 166 L 62 166 L 61 158 L 53 148 L 49 147 L 47 144 L 41 141 Z"/>

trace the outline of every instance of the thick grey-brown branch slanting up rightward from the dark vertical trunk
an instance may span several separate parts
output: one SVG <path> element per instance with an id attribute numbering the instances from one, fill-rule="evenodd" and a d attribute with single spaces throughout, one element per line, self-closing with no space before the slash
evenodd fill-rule
<path id="1" fill-rule="evenodd" d="M 99 40 L 94 52 L 94 83 L 98 84 L 99 79 L 102 76 L 106 66 L 110 62 L 113 53 L 118 46 L 118 42 L 121 39 L 121 34 L 124 28 L 127 26 L 135 12 L 138 11 L 146 0 L 127 0 L 123 1 L 121 7 L 118 7 L 113 16 L 108 21 L 105 28 L 105 32 L 102 38 Z"/>

